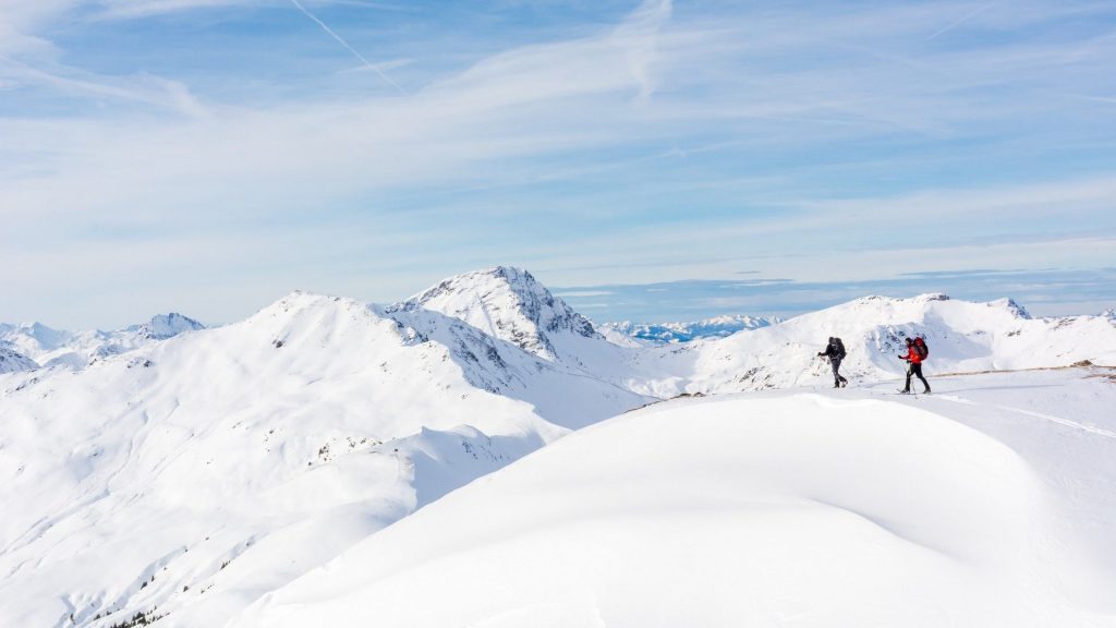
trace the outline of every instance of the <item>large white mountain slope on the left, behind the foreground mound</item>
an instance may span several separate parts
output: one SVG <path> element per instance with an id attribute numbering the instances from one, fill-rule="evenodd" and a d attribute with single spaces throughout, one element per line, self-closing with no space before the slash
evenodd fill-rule
<path id="1" fill-rule="evenodd" d="M 213 625 L 564 425 L 645 402 L 425 318 L 296 293 L 0 378 L 0 625 Z"/>

